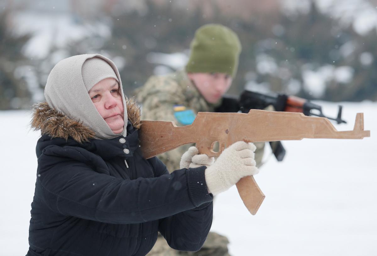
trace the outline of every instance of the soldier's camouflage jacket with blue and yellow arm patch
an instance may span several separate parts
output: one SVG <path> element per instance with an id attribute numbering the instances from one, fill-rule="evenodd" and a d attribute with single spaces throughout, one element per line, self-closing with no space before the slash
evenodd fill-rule
<path id="1" fill-rule="evenodd" d="M 221 104 L 208 103 L 185 71 L 152 76 L 137 93 L 142 120 L 173 121 L 177 126 L 191 124 L 198 112 L 214 112 Z M 169 172 L 178 170 L 182 154 L 193 145 L 184 145 L 159 155 Z M 256 143 L 256 162 L 261 163 L 264 143 Z"/>

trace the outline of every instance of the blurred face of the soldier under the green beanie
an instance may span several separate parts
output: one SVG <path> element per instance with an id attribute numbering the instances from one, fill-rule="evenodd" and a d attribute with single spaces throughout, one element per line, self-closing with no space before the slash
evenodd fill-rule
<path id="1" fill-rule="evenodd" d="M 187 75 L 209 103 L 218 102 L 232 83 L 231 76 L 224 73 L 189 73 Z"/>

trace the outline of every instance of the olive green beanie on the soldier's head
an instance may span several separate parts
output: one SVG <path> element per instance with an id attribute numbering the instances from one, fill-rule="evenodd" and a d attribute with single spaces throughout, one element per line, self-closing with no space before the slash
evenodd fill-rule
<path id="1" fill-rule="evenodd" d="M 241 43 L 236 33 L 219 24 L 201 26 L 190 44 L 188 73 L 225 73 L 236 76 Z"/>

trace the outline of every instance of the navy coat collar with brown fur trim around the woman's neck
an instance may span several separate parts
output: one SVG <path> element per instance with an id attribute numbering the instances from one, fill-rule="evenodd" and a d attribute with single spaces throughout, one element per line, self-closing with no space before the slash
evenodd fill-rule
<path id="1" fill-rule="evenodd" d="M 133 99 L 126 100 L 128 122 L 127 136 L 114 139 L 94 139 L 95 133 L 83 126 L 79 120 L 69 119 L 57 112 L 46 102 L 33 105 L 31 127 L 41 130 L 42 137 L 38 140 L 36 153 L 39 157 L 42 150 L 50 145 L 82 147 L 103 159 L 116 156 L 129 158 L 139 147 L 138 129 L 141 126 L 140 110 Z"/>

